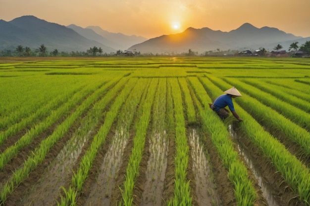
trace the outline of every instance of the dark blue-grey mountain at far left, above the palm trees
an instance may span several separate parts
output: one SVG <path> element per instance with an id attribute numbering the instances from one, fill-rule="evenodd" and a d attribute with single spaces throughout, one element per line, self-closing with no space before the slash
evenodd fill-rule
<path id="1" fill-rule="evenodd" d="M 0 49 L 15 50 L 18 45 L 33 49 L 41 44 L 48 51 L 86 51 L 97 46 L 103 49 L 103 53 L 115 52 L 115 49 L 86 39 L 70 28 L 35 16 L 21 16 L 9 22 L 0 20 Z"/>

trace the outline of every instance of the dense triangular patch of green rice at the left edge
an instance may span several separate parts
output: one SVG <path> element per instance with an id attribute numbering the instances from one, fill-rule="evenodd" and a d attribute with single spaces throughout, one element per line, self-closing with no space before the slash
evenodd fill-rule
<path id="1" fill-rule="evenodd" d="M 81 84 L 77 80 L 63 79 L 61 82 L 61 79 L 42 76 L 1 80 L 0 93 L 3 98 L 0 100 L 0 130 L 27 118 L 57 96 L 76 91 Z"/>

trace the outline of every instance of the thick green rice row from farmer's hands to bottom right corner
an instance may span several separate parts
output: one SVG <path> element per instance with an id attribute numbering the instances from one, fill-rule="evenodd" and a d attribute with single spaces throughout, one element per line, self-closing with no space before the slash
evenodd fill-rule
<path id="1" fill-rule="evenodd" d="M 214 78 L 212 78 L 212 80 L 214 81 Z M 216 79 L 215 82 L 218 83 L 221 89 L 231 86 L 219 79 Z M 218 89 L 218 91 L 220 91 L 220 89 Z M 241 101 L 241 99 L 239 101 Z M 254 105 L 255 102 L 249 102 L 249 104 Z M 298 194 L 299 200 L 304 203 L 309 203 L 309 168 L 297 160 L 283 144 L 266 132 L 264 128 L 237 103 L 235 103 L 234 106 L 236 110 L 238 110 L 238 114 L 240 114 L 247 123 L 240 124 L 241 129 L 244 130 L 253 144 L 260 148 L 262 154 L 267 157 L 273 163 L 274 167 L 282 174 L 290 188 Z"/>

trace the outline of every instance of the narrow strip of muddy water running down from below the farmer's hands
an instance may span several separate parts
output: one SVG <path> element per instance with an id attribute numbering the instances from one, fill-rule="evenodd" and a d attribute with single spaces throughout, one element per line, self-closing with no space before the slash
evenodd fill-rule
<path id="1" fill-rule="evenodd" d="M 279 206 L 274 199 L 274 196 L 269 189 L 268 183 L 264 180 L 263 176 L 261 175 L 259 169 L 253 164 L 254 160 L 252 159 L 251 155 L 249 155 L 249 151 L 245 150 L 242 147 L 242 144 L 239 142 L 238 134 L 234 131 L 233 125 L 228 126 L 229 133 L 232 137 L 236 138 L 236 142 L 238 143 L 238 150 L 239 153 L 243 156 L 244 160 L 248 164 L 249 168 L 253 171 L 256 179 L 258 180 L 258 185 L 260 190 L 262 191 L 262 195 L 268 203 L 268 206 Z"/>

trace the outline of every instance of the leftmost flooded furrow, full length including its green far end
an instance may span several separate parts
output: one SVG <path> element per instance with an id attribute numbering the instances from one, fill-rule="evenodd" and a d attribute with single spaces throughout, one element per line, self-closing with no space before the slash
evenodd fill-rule
<path id="1" fill-rule="evenodd" d="M 98 90 L 98 96 L 101 97 L 102 91 Z M 33 186 L 27 191 L 23 198 L 25 205 L 41 206 L 56 205 L 59 194 L 63 192 L 61 187 L 65 187 L 66 182 L 70 179 L 74 166 L 78 162 L 82 152 L 89 146 L 89 141 L 95 135 L 98 125 L 102 124 L 104 115 L 103 108 L 108 105 L 110 98 L 98 98 L 92 109 L 84 112 L 81 116 L 79 127 L 72 133 L 69 133 L 70 140 L 64 144 L 57 156 L 51 161 L 44 174 Z M 107 106 L 109 107 L 109 106 Z M 86 116 L 86 113 L 88 115 Z"/>

